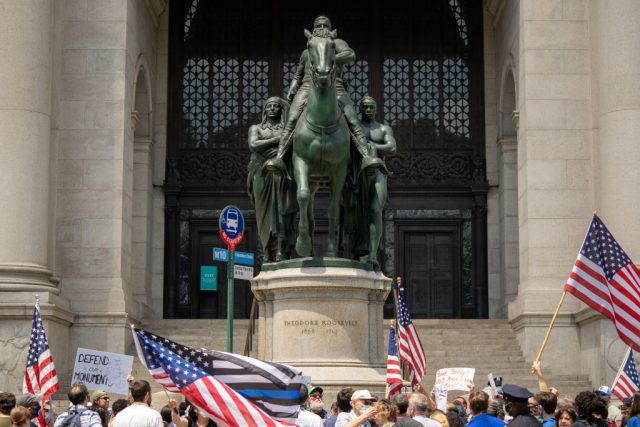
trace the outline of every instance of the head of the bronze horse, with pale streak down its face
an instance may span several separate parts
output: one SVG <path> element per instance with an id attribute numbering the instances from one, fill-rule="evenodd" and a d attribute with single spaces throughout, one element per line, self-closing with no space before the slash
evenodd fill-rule
<path id="1" fill-rule="evenodd" d="M 304 30 L 307 36 L 307 51 L 313 83 L 318 87 L 333 85 L 336 78 L 336 37 L 335 31 L 320 37 Z"/>

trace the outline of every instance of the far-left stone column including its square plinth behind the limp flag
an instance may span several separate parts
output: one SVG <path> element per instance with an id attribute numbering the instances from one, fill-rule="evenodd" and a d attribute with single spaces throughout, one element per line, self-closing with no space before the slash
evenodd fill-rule
<path id="1" fill-rule="evenodd" d="M 73 314 L 52 274 L 53 1 L 0 0 L 0 389 L 22 383 L 34 295 L 63 384 Z"/>

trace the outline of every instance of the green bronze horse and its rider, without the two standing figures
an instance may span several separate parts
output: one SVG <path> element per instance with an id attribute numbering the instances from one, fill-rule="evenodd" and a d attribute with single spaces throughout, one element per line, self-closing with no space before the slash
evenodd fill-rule
<path id="1" fill-rule="evenodd" d="M 289 178 L 284 158 L 292 148 L 291 167 L 300 213 L 295 249 L 303 257 L 313 255 L 315 193 L 320 185 L 328 185 L 331 194 L 325 255 L 335 257 L 339 249 L 341 197 L 351 164 L 351 142 L 358 157 L 361 156 L 358 173 L 386 174 L 387 170 L 376 155 L 375 145 L 365 135 L 342 81 L 344 66 L 355 60 L 353 49 L 337 38 L 326 16 L 316 18 L 313 33 L 305 30 L 305 36 L 307 48 L 300 57 L 288 94 L 289 99 L 293 98 L 288 118 L 277 153 L 264 162 L 262 173 Z M 379 235 L 379 230 L 375 234 Z"/>

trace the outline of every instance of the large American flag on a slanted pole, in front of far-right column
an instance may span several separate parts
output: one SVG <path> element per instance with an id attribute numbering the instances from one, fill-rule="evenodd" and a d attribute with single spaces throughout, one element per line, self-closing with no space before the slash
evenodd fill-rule
<path id="1" fill-rule="evenodd" d="M 597 215 L 564 290 L 608 317 L 620 339 L 640 351 L 640 272 Z"/>

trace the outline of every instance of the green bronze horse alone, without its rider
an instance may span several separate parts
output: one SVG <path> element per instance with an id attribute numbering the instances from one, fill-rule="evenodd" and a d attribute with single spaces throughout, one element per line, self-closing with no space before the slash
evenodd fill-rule
<path id="1" fill-rule="evenodd" d="M 336 96 L 336 48 L 332 37 L 313 36 L 305 30 L 312 84 L 306 111 L 293 133 L 293 175 L 300 208 L 296 252 L 313 253 L 313 198 L 328 184 L 329 237 L 327 256 L 338 254 L 340 200 L 350 162 L 351 134 Z"/>

